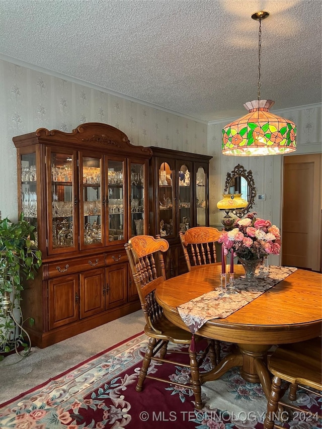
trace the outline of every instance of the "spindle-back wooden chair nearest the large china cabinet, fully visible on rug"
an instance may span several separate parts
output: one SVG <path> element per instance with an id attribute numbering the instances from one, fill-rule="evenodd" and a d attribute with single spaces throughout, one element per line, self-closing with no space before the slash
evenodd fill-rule
<path id="1" fill-rule="evenodd" d="M 150 338 L 135 389 L 137 392 L 142 390 L 145 378 L 175 384 L 182 388 L 190 388 L 193 390 L 195 396 L 195 407 L 197 409 L 201 409 L 203 404 L 201 401 L 199 365 L 206 357 L 208 351 L 210 360 L 212 364 L 215 365 L 215 351 L 213 342 L 210 342 L 205 352 L 200 357 L 197 357 L 194 346 L 195 341 L 201 339 L 201 337 L 194 335 L 194 340 L 192 341 L 191 332 L 181 329 L 170 322 L 164 316 L 162 307 L 160 307 L 155 300 L 155 288 L 161 282 L 166 280 L 163 252 L 168 250 L 168 248 L 169 243 L 167 240 L 164 238 L 153 238 L 149 235 L 134 236 L 125 244 L 133 280 L 135 282 L 141 307 L 145 316 L 146 324 L 144 332 Z M 177 363 L 166 359 L 169 341 L 174 344 L 189 345 L 190 360 L 187 364 Z M 158 356 L 156 356 L 157 354 Z M 151 359 L 157 362 L 171 362 L 172 364 L 182 367 L 189 367 L 191 371 L 191 384 L 184 385 L 174 383 L 169 379 L 166 380 L 153 375 L 148 375 L 147 372 Z"/>

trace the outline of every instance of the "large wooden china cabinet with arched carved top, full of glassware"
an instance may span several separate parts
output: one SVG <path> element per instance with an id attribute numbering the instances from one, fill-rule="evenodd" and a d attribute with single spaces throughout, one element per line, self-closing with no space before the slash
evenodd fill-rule
<path id="1" fill-rule="evenodd" d="M 148 231 L 151 149 L 102 123 L 13 138 L 19 213 L 36 226 L 43 265 L 22 294 L 32 344 L 47 347 L 136 311 L 124 244 Z M 27 325 L 27 323 L 26 323 Z"/>

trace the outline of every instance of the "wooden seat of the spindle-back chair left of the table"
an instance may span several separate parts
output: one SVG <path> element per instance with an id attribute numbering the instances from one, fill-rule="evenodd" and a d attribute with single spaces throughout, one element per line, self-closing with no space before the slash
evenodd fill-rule
<path id="1" fill-rule="evenodd" d="M 154 331 L 149 325 L 144 326 L 144 332 L 147 336 L 157 339 L 167 339 L 177 344 L 190 344 L 192 333 L 174 325 L 164 315 L 153 323 L 153 327 L 160 331 L 158 333 Z M 200 339 L 198 335 L 195 335 L 195 340 Z"/>

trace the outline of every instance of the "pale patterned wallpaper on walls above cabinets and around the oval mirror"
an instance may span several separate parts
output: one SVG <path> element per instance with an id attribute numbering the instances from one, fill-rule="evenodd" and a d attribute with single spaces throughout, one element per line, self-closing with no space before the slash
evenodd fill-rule
<path id="1" fill-rule="evenodd" d="M 103 122 L 117 127 L 135 145 L 212 155 L 209 190 L 212 225 L 221 225 L 222 215 L 216 203 L 221 199 L 227 172 L 237 163 L 252 169 L 257 193 L 266 194 L 265 201 L 256 200 L 254 210 L 261 217 L 274 217 L 273 207 L 275 210 L 277 207 L 274 196 L 278 197 L 278 205 L 280 199 L 276 171 L 281 171 L 281 157 L 222 155 L 221 129 L 229 118 L 206 125 L 7 61 L 0 61 L 0 92 L 0 211 L 3 218 L 15 220 L 18 215 L 16 148 L 12 137 L 41 127 L 70 132 L 84 122 Z M 320 106 L 293 108 L 283 112 L 283 116 L 297 124 L 296 153 L 321 150 Z"/>

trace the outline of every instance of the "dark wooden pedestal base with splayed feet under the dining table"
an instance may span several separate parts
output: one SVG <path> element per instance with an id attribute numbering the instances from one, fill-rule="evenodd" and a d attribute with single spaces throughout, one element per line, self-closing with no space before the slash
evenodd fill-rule
<path id="1" fill-rule="evenodd" d="M 267 352 L 271 346 L 238 344 L 239 352 L 231 353 L 222 359 L 218 365 L 206 374 L 201 374 L 201 383 L 217 380 L 230 368 L 240 367 L 240 375 L 251 383 L 261 383 L 265 396 L 269 398 L 271 391 L 271 376 L 267 369 Z"/>

